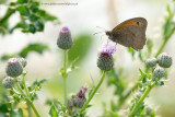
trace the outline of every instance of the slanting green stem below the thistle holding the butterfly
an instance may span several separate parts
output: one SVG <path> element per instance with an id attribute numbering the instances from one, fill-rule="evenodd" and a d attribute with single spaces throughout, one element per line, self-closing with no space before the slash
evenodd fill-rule
<path id="1" fill-rule="evenodd" d="M 92 92 L 92 94 L 90 95 L 89 100 L 85 102 L 84 106 L 81 108 L 80 113 L 82 113 L 82 112 L 85 110 L 85 108 L 88 107 L 88 105 L 91 102 L 92 97 L 94 96 L 94 94 L 96 93 L 96 91 L 101 86 L 102 82 L 104 81 L 104 78 L 105 78 L 105 71 L 103 71 L 103 74 L 102 74 L 102 78 L 101 78 L 98 84 L 96 85 L 96 87 L 94 89 L 94 91 Z"/>

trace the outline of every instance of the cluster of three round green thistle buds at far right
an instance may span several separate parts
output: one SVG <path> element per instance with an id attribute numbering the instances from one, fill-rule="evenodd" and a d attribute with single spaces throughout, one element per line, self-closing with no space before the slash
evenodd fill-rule
<path id="1" fill-rule="evenodd" d="M 145 63 L 149 68 L 154 68 L 153 70 L 153 77 L 161 79 L 165 77 L 165 68 L 170 68 L 172 66 L 172 57 L 162 52 L 158 56 L 158 58 L 149 58 Z M 159 67 L 156 67 L 159 65 Z"/>

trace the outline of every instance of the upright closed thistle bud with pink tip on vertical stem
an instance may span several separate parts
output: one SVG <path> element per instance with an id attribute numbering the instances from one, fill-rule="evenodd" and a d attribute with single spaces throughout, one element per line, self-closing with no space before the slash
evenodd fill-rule
<path id="1" fill-rule="evenodd" d="M 58 39 L 57 45 L 61 49 L 70 49 L 72 47 L 72 37 L 68 27 L 62 27 Z"/>

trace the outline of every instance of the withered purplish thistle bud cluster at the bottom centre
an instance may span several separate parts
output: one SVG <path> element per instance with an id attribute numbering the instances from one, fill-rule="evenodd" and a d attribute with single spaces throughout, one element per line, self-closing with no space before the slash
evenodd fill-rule
<path id="1" fill-rule="evenodd" d="M 73 96 L 67 104 L 69 112 L 74 114 L 77 109 L 83 107 L 84 103 L 86 102 L 85 92 L 88 91 L 88 86 L 82 86 L 79 93 Z"/>

